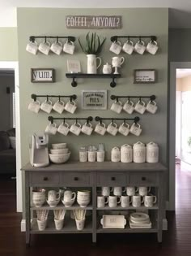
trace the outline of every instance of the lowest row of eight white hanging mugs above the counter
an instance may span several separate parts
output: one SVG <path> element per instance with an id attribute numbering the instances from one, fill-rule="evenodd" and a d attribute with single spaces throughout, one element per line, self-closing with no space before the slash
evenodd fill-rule
<path id="1" fill-rule="evenodd" d="M 104 136 L 106 132 L 108 132 L 112 136 L 116 136 L 117 132 L 121 133 L 124 136 L 127 136 L 129 133 L 132 133 L 135 136 L 140 136 L 142 128 L 141 125 L 138 123 L 134 123 L 130 126 L 126 122 L 122 123 L 119 128 L 117 128 L 116 123 L 112 122 L 111 124 L 108 124 L 108 127 L 106 128 L 106 125 L 103 122 L 99 122 L 99 124 L 97 124 L 96 128 L 94 129 L 90 122 L 87 122 L 82 126 L 77 121 L 75 121 L 75 123 L 71 126 L 66 122 L 62 122 L 62 124 L 60 124 L 58 128 L 57 124 L 50 122 L 45 128 L 46 133 L 55 135 L 57 132 L 59 132 L 64 136 L 67 136 L 69 132 L 73 133 L 76 136 L 79 136 L 79 134 L 83 132 L 83 134 L 90 136 L 93 131 L 102 136 Z"/>

